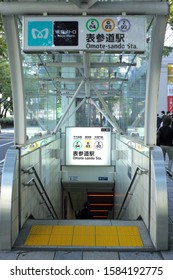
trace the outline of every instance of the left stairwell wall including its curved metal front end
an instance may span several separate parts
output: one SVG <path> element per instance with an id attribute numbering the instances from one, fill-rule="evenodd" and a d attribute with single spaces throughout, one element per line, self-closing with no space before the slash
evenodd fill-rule
<path id="1" fill-rule="evenodd" d="M 15 148 L 6 155 L 0 197 L 0 249 L 11 249 L 30 215 L 36 219 L 52 218 L 35 186 L 26 186 L 34 174 L 24 169 L 35 167 L 58 217 L 62 217 L 60 138 L 39 148 L 33 148 L 33 144 L 28 147 L 31 151 L 23 155 Z"/>

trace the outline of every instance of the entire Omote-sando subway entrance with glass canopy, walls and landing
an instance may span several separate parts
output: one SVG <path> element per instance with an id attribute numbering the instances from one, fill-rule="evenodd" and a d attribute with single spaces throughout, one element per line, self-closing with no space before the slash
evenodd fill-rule
<path id="1" fill-rule="evenodd" d="M 167 249 L 155 132 L 168 11 L 157 0 L 0 2 L 15 124 L 1 249 Z M 77 219 L 86 201 L 92 219 Z"/>

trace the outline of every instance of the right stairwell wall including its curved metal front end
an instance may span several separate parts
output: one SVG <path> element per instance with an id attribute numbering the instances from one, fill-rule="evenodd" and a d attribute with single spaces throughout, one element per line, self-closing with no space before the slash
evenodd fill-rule
<path id="1" fill-rule="evenodd" d="M 144 172 L 135 177 L 130 195 L 120 216 L 124 220 L 144 221 L 156 249 L 168 247 L 168 201 L 162 151 L 117 136 L 115 217 L 137 167 Z M 164 237 L 164 238 L 163 238 Z"/>

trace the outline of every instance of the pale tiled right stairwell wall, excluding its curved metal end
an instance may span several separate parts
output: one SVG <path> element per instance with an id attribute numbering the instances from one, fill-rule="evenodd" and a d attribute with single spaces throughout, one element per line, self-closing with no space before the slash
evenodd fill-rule
<path id="1" fill-rule="evenodd" d="M 137 167 L 143 168 L 147 174 L 137 175 L 130 196 L 130 211 L 122 214 L 125 220 L 136 220 L 140 215 L 148 227 L 148 201 L 149 201 L 149 149 L 133 141 L 127 141 L 125 137 L 117 137 L 117 152 L 119 158 L 116 162 L 116 193 L 115 217 L 124 199 L 124 195 L 130 185 Z M 134 195 L 135 193 L 135 195 Z M 127 209 L 129 205 L 126 205 Z"/>

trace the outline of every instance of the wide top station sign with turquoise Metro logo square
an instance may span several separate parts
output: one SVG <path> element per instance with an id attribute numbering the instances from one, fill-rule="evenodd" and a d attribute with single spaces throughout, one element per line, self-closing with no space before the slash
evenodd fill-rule
<path id="1" fill-rule="evenodd" d="M 143 16 L 24 17 L 23 51 L 144 52 Z"/>

